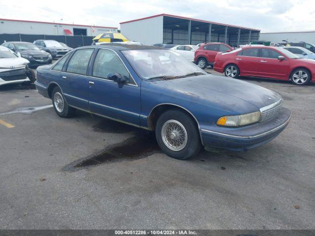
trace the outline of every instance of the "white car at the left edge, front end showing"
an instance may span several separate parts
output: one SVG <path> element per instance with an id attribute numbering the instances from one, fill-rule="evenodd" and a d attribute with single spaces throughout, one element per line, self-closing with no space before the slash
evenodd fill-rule
<path id="1" fill-rule="evenodd" d="M 27 59 L 18 57 L 10 49 L 0 46 L 0 86 L 34 82 L 35 74 L 27 66 L 29 62 Z"/>

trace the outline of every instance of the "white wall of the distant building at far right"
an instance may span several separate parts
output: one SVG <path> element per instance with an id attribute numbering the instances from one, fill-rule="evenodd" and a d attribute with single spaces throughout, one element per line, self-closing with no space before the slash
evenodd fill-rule
<path id="1" fill-rule="evenodd" d="M 282 43 L 282 40 L 289 42 L 307 42 L 315 44 L 315 31 L 313 32 L 284 32 L 284 33 L 260 33 L 260 40 Z"/>

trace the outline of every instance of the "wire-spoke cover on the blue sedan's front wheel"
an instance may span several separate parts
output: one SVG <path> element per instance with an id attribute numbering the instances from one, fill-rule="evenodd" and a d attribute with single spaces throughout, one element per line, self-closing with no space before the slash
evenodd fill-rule
<path id="1" fill-rule="evenodd" d="M 167 120 L 162 126 L 161 135 L 166 147 L 173 151 L 180 151 L 187 145 L 187 131 L 177 120 Z"/>

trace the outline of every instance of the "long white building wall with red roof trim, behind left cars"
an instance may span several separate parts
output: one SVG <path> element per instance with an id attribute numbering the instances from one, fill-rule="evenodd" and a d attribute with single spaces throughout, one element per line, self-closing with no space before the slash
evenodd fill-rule
<path id="1" fill-rule="evenodd" d="M 111 28 L 94 27 L 95 31 L 92 32 L 92 28 L 90 26 L 85 27 L 85 26 L 78 26 L 78 25 L 61 25 L 61 24 L 0 20 L 0 33 L 65 35 L 63 29 L 69 29 L 73 33 L 73 28 L 87 29 L 88 36 L 96 36 L 97 34 L 100 33 L 100 31 L 104 32 L 105 30 L 117 32 L 117 29 L 111 29 Z"/>

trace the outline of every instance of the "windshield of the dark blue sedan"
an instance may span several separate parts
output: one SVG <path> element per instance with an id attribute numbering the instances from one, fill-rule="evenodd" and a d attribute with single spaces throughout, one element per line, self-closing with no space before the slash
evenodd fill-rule
<path id="1" fill-rule="evenodd" d="M 169 80 L 207 74 L 178 53 L 164 49 L 124 50 L 122 53 L 145 80 Z"/>

